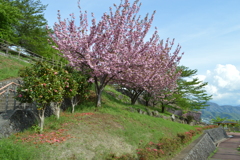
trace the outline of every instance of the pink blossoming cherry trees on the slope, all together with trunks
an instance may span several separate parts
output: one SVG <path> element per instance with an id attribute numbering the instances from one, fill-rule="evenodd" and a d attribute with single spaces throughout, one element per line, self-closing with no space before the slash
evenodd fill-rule
<path id="1" fill-rule="evenodd" d="M 90 81 L 95 83 L 96 106 L 101 106 L 101 94 L 109 83 L 117 83 L 132 91 L 132 104 L 147 92 L 154 98 L 165 96 L 176 88 L 181 71 L 177 65 L 181 59 L 180 46 L 172 51 L 174 40 L 163 42 L 157 30 L 149 40 L 147 33 L 154 13 L 143 19 L 138 16 L 139 1 L 131 5 L 125 0 L 114 4 L 99 22 L 92 14 L 89 25 L 87 12 L 80 5 L 80 26 L 75 25 L 74 14 L 62 20 L 60 12 L 54 33 L 50 36 L 69 64 L 75 69 L 90 70 Z"/>

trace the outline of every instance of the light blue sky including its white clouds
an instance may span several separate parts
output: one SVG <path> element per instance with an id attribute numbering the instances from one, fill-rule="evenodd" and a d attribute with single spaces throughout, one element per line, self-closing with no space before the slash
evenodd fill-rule
<path id="1" fill-rule="evenodd" d="M 78 17 L 78 0 L 41 0 L 48 4 L 45 18 L 49 26 L 70 13 Z M 130 0 L 132 3 L 133 0 Z M 209 83 L 206 90 L 213 102 L 240 105 L 240 0 L 140 0 L 140 14 L 156 10 L 149 37 L 158 28 L 164 40 L 175 38 L 184 52 L 181 63 L 198 70 L 198 77 Z M 81 0 L 82 10 L 99 19 L 120 0 Z M 77 19 L 77 18 L 76 18 Z"/>

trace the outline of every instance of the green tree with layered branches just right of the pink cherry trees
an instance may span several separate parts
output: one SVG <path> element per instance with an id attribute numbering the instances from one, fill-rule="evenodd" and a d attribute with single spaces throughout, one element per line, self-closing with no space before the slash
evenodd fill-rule
<path id="1" fill-rule="evenodd" d="M 143 95 L 146 105 L 150 102 L 152 105 L 160 104 L 162 113 L 166 108 L 181 108 L 183 110 L 198 110 L 208 106 L 206 103 L 211 99 L 211 95 L 208 95 L 205 90 L 207 82 L 202 82 L 198 78 L 194 77 L 197 74 L 197 70 L 189 69 L 185 66 L 179 66 L 181 70 L 181 76 L 177 80 L 177 88 L 169 91 L 159 91 L 162 96 L 153 98 L 150 93 Z"/>

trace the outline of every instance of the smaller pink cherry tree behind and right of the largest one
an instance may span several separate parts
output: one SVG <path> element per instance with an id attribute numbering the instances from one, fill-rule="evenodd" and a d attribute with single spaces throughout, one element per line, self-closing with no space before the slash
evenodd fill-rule
<path id="1" fill-rule="evenodd" d="M 166 90 L 173 91 L 177 87 L 176 81 L 181 74 L 181 70 L 177 70 L 181 47 L 177 46 L 175 51 L 170 53 L 173 42 L 167 40 L 163 46 L 163 41 L 160 41 L 155 50 L 142 55 L 145 57 L 144 63 L 138 66 L 133 74 L 128 71 L 120 73 L 124 78 L 118 80 L 118 83 L 127 90 L 132 104 L 135 104 L 143 92 L 151 95 L 152 99 L 159 99 L 168 95 Z"/>

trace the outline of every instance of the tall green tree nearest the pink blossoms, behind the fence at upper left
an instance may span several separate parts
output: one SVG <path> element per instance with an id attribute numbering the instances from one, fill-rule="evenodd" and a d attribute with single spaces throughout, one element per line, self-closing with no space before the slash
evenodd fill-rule
<path id="1" fill-rule="evenodd" d="M 1 0 L 4 3 L 18 9 L 21 17 L 18 23 L 12 23 L 14 34 L 17 37 L 16 44 L 44 57 L 56 58 L 56 50 L 49 44 L 49 30 L 46 29 L 47 20 L 44 11 L 47 5 L 40 0 Z"/>

